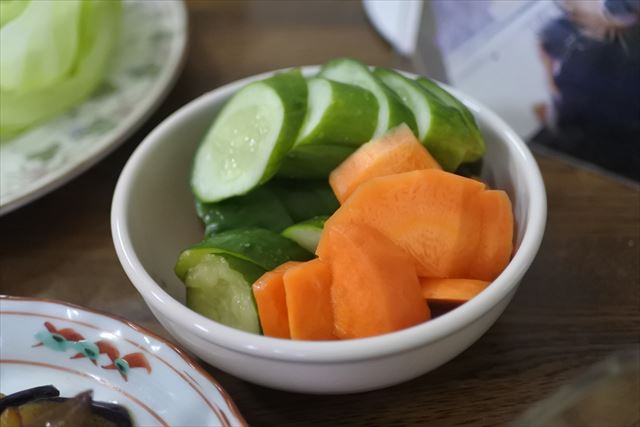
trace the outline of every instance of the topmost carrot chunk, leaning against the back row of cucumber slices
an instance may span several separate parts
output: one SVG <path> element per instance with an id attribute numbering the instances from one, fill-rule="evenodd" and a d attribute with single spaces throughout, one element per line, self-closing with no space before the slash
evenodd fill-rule
<path id="1" fill-rule="evenodd" d="M 379 176 L 420 169 L 442 169 L 413 132 L 402 124 L 363 144 L 329 175 L 329 184 L 343 203 L 363 182 Z"/>

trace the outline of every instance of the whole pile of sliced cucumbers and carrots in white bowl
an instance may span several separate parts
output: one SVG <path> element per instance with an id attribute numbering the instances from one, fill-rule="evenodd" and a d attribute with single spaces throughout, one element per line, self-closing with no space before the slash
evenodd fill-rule
<path id="1" fill-rule="evenodd" d="M 461 174 L 484 152 L 471 112 L 426 78 L 336 59 L 246 85 L 193 161 L 205 235 L 175 266 L 186 304 L 247 332 L 334 340 L 464 303 L 513 252 L 509 197 Z"/>

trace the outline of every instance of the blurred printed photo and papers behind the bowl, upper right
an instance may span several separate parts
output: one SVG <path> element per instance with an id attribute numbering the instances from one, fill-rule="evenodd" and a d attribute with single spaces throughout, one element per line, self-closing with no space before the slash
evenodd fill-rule
<path id="1" fill-rule="evenodd" d="M 365 0 L 419 73 L 540 150 L 640 180 L 639 0 Z"/>

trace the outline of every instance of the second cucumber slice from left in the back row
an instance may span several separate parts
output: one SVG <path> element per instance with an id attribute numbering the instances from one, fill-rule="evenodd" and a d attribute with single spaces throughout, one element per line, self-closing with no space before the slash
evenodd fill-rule
<path id="1" fill-rule="evenodd" d="M 307 79 L 307 115 L 294 151 L 307 144 L 359 147 L 378 123 L 378 101 L 361 87 L 323 78 Z"/>

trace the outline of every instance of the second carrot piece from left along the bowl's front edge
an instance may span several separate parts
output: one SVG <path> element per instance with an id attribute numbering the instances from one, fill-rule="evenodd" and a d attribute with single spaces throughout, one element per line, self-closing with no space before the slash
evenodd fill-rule
<path id="1" fill-rule="evenodd" d="M 316 258 L 287 270 L 283 277 L 291 338 L 332 340 L 331 268 Z"/>

